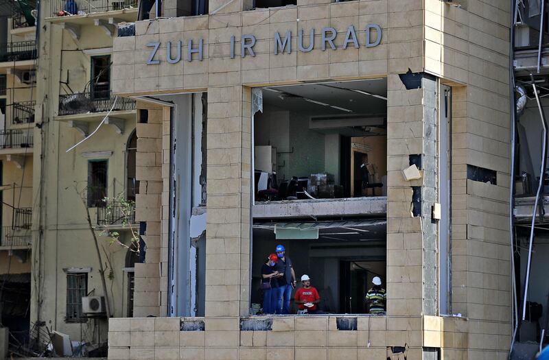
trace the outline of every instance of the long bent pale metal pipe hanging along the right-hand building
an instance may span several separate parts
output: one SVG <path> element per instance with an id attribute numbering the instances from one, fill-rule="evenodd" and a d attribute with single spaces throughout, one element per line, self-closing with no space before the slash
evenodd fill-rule
<path id="1" fill-rule="evenodd" d="M 543 7 L 542 7 L 543 8 Z M 541 117 L 541 125 L 544 127 L 544 138 L 541 143 L 541 167 L 539 173 L 539 184 L 537 185 L 536 200 L 534 202 L 534 208 L 532 212 L 532 223 L 530 228 L 530 244 L 528 245 L 528 263 L 526 263 L 526 279 L 524 280 L 524 298 L 522 299 L 522 320 L 526 319 L 526 296 L 528 295 L 528 285 L 530 280 L 530 265 L 532 263 L 532 245 L 534 242 L 534 226 L 535 226 L 535 213 L 539 203 L 539 197 L 543 193 L 544 180 L 545 180 L 545 166 L 547 160 L 547 122 L 545 119 L 544 108 L 541 107 L 541 101 L 539 101 L 539 95 L 537 93 L 537 87 L 535 82 L 532 84 L 534 95 L 536 97 L 537 108 L 539 109 L 539 117 Z"/>

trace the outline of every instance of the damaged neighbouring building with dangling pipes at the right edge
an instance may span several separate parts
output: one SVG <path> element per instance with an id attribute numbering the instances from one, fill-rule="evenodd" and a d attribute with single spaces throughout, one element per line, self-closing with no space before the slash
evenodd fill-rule
<path id="1" fill-rule="evenodd" d="M 547 109 L 549 30 L 546 1 L 512 1 L 511 231 L 512 359 L 548 345 L 549 232 Z"/>

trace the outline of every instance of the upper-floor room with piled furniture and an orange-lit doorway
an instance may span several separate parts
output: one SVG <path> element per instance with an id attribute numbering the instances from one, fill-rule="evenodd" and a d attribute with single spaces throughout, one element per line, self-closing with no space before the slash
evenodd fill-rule
<path id="1" fill-rule="evenodd" d="M 386 195 L 385 78 L 263 88 L 255 202 Z"/>

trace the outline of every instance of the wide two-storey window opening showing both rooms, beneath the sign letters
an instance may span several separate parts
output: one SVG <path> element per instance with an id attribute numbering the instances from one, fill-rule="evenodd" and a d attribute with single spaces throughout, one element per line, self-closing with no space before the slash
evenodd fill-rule
<path id="1" fill-rule="evenodd" d="M 253 92 L 262 112 L 252 135 L 252 314 L 278 313 L 280 297 L 262 283 L 292 280 L 263 280 L 277 245 L 296 279 L 281 313 L 303 313 L 295 296 L 305 275 L 320 296 L 307 313 L 370 313 L 373 279 L 386 288 L 386 87 L 383 78 Z"/>

